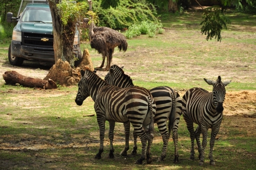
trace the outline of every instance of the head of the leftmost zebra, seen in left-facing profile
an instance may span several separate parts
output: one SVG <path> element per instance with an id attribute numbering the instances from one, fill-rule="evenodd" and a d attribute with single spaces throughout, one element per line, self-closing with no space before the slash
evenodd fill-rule
<path id="1" fill-rule="evenodd" d="M 81 69 L 80 71 L 81 74 L 81 79 L 78 83 L 78 92 L 76 94 L 76 104 L 81 106 L 83 104 L 83 101 L 90 96 L 89 92 L 87 92 L 87 90 L 85 89 L 85 71 Z"/>

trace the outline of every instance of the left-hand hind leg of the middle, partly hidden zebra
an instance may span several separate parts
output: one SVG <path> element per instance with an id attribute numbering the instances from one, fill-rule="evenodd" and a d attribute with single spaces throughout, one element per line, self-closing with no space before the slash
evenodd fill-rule
<path id="1" fill-rule="evenodd" d="M 167 150 L 169 138 L 170 138 L 168 130 L 166 129 L 166 122 L 165 122 L 165 124 L 160 124 L 160 123 L 157 124 L 157 126 L 162 135 L 163 148 L 162 148 L 162 153 L 161 153 L 160 157 L 158 158 L 157 162 L 162 162 L 162 161 L 164 161 L 163 159 L 166 158 L 166 150 Z M 161 128 L 161 127 L 163 127 L 163 128 Z"/>

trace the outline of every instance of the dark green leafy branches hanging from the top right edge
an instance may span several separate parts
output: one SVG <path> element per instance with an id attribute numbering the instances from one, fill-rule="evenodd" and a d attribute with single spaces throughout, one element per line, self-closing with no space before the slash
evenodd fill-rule
<path id="1" fill-rule="evenodd" d="M 148 0 L 154 5 L 158 6 L 161 9 L 163 4 L 166 4 L 167 0 L 163 0 L 160 2 L 159 0 Z M 178 4 L 181 6 L 184 4 L 191 4 L 192 1 L 196 2 L 199 6 L 201 6 L 200 2 L 210 6 L 208 8 L 203 8 L 201 6 L 203 13 L 202 18 L 204 19 L 200 25 L 201 33 L 207 35 L 206 40 L 212 40 L 213 37 L 217 38 L 218 41 L 221 42 L 221 31 L 222 29 L 227 29 L 227 24 L 230 24 L 230 19 L 225 16 L 224 12 L 227 7 L 236 7 L 237 9 L 243 9 L 242 0 L 168 0 L 168 11 L 169 12 L 177 12 Z M 189 2 L 190 1 L 190 2 Z M 253 6 L 253 0 L 245 0 L 248 6 Z M 245 4 L 245 5 L 246 5 Z"/>

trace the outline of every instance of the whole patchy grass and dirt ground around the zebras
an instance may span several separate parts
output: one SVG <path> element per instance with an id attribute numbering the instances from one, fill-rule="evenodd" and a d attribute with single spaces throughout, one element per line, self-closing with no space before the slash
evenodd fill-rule
<path id="1" fill-rule="evenodd" d="M 183 117 L 180 120 L 180 164 L 174 159 L 170 139 L 164 162 L 156 162 L 163 145 L 155 126 L 151 164 L 135 165 L 139 154 L 119 156 L 124 147 L 124 128 L 115 127 L 115 158 L 108 158 L 108 124 L 105 150 L 100 160 L 94 159 L 99 150 L 99 128 L 93 114 L 93 101 L 87 98 L 79 107 L 74 99 L 77 87 L 42 90 L 6 85 L 0 78 L 0 169 L 3 170 L 253 170 L 256 167 L 256 16 L 233 14 L 232 24 L 222 32 L 221 43 L 206 41 L 200 33 L 200 12 L 183 16 L 166 16 L 165 32 L 148 38 L 142 35 L 128 40 L 128 51 L 116 52 L 112 64 L 124 66 L 134 84 L 145 88 L 170 86 L 182 96 L 185 90 L 198 86 L 212 87 L 203 78 L 231 80 L 226 87 L 224 119 L 215 141 L 213 156 L 216 166 L 209 165 L 209 138 L 203 167 L 189 161 L 190 138 Z M 199 17 L 199 19 L 198 19 Z M 167 22 L 168 20 L 168 22 Z M 25 61 L 23 66 L 8 63 L 9 44 L 0 46 L 0 73 L 15 70 L 32 78 L 44 78 L 49 64 Z M 90 51 L 94 66 L 102 58 L 89 44 L 82 48 Z M 97 72 L 104 77 L 106 72 Z M 209 130 L 210 133 L 210 130 Z M 209 135 L 208 135 L 209 136 Z M 141 145 L 138 142 L 138 153 Z M 133 138 L 130 135 L 130 151 Z"/>

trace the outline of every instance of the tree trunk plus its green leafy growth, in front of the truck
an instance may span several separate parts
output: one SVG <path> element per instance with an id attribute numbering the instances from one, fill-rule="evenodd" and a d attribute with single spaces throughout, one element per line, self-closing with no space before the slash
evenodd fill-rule
<path id="1" fill-rule="evenodd" d="M 53 48 L 55 62 L 67 61 L 74 67 L 73 42 L 78 21 L 87 12 L 87 3 L 73 3 L 72 0 L 48 0 L 52 14 Z"/>

